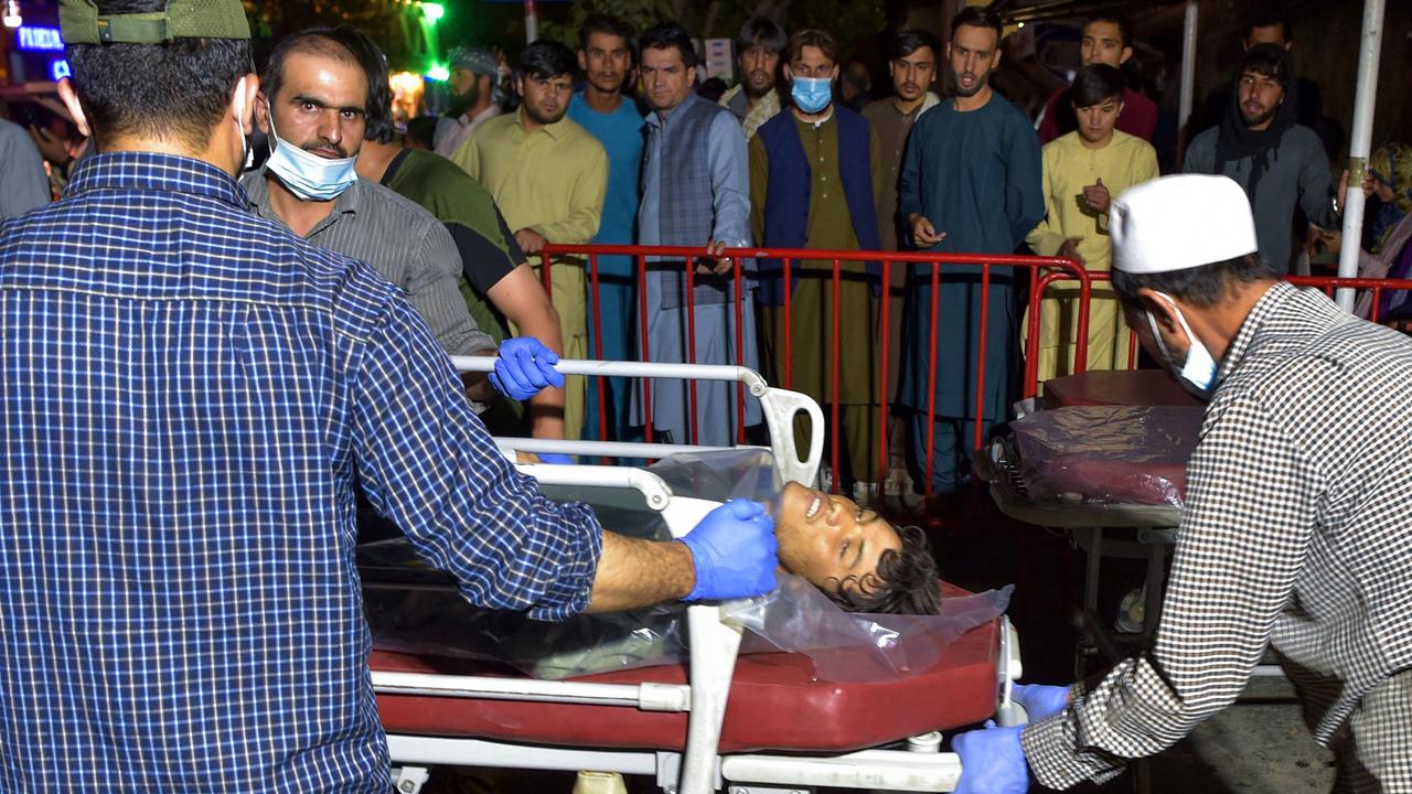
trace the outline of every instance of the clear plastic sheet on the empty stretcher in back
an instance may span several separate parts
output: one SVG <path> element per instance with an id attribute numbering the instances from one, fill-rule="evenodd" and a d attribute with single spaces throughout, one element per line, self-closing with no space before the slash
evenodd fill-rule
<path id="1" fill-rule="evenodd" d="M 1083 405 L 1038 411 L 1010 427 L 1034 500 L 1180 509 L 1204 415 L 1206 408 Z"/>

